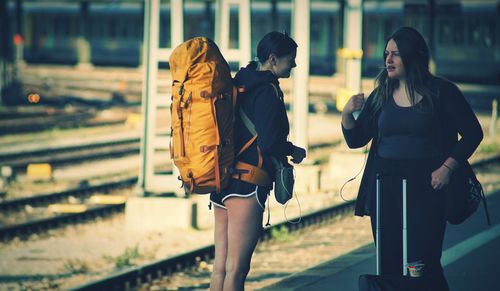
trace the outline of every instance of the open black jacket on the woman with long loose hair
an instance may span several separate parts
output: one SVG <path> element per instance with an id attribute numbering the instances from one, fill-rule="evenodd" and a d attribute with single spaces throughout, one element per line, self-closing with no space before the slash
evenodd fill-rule
<path id="1" fill-rule="evenodd" d="M 455 84 L 433 77 L 430 86 L 438 96 L 433 113 L 434 123 L 436 124 L 433 137 L 439 146 L 440 156 L 443 162 L 448 157 L 452 157 L 458 163 L 464 163 L 474 153 L 483 139 L 481 125 Z M 344 138 L 350 148 L 363 147 L 372 140 L 356 200 L 355 215 L 358 216 L 370 214 L 370 201 L 375 195 L 374 189 L 372 189 L 373 183 L 371 182 L 375 179 L 376 174 L 373 160 L 377 152 L 377 121 L 380 115 L 380 110 L 378 112 L 374 110 L 376 90 L 367 98 L 354 128 L 347 130 L 342 126 Z M 460 140 L 458 134 L 461 136 Z"/>

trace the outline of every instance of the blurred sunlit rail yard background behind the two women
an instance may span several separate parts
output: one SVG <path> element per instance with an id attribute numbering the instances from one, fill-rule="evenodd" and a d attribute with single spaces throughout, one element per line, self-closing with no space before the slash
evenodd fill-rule
<path id="1" fill-rule="evenodd" d="M 216 40 L 233 73 L 267 32 L 299 45 L 280 86 L 308 160 L 296 167 L 299 199 L 268 205 L 271 243 L 259 245 L 247 287 L 371 243 L 369 222 L 351 215 L 359 178 L 344 184 L 366 150 L 344 144 L 340 100 L 373 90 L 401 26 L 424 35 L 431 70 L 477 114 L 485 139 L 471 163 L 495 209 L 499 0 L 0 0 L 0 290 L 208 288 L 208 198 L 184 195 L 169 152 L 168 55 L 195 36 Z"/>

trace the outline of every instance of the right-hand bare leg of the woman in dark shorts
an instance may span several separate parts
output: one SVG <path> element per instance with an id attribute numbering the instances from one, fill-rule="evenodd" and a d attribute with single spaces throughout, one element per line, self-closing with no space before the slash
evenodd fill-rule
<path id="1" fill-rule="evenodd" d="M 255 197 L 231 197 L 227 207 L 227 240 L 225 291 L 244 290 L 250 261 L 262 230 L 262 208 Z"/>

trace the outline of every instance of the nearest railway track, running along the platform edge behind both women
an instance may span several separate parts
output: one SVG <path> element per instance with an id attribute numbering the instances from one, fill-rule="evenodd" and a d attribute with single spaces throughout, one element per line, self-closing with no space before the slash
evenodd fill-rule
<path id="1" fill-rule="evenodd" d="M 473 164 L 473 167 L 477 170 L 480 167 L 497 163 L 499 160 L 499 156 L 488 160 L 482 160 Z M 283 228 L 286 228 L 287 231 L 293 232 L 312 226 L 328 224 L 331 221 L 337 220 L 346 215 L 347 213 L 351 215 L 353 207 L 353 201 L 345 202 L 340 205 L 328 207 L 304 215 L 302 216 L 301 223 L 299 224 L 288 224 L 286 222 L 275 224 L 264 229 L 261 241 L 268 241 L 272 239 L 273 231 L 279 231 Z M 206 265 L 208 261 L 213 259 L 214 251 L 214 245 L 208 245 L 174 257 L 166 258 L 164 260 L 133 267 L 126 271 L 74 287 L 71 290 L 90 291 L 147 289 L 148 287 L 146 285 L 154 285 L 154 282 L 162 281 L 173 273 L 193 270 L 199 268 L 202 264 Z"/>

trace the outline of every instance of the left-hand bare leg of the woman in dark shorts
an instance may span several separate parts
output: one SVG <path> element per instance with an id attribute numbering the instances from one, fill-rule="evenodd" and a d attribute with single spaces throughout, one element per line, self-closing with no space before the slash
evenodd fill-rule
<path id="1" fill-rule="evenodd" d="M 224 277 L 226 276 L 227 258 L 227 211 L 215 204 L 214 206 L 214 242 L 215 260 L 212 277 L 210 278 L 210 290 L 222 291 Z"/>

